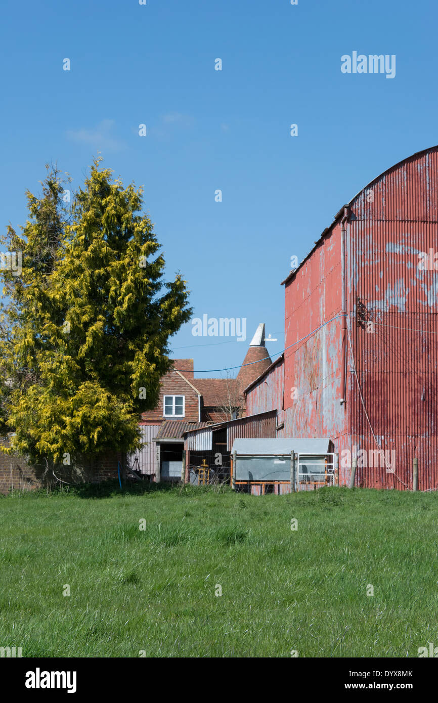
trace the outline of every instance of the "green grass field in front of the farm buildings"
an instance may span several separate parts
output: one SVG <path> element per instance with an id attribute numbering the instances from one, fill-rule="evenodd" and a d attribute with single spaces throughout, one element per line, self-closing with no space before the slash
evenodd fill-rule
<path id="1" fill-rule="evenodd" d="M 8 496 L 0 514 L 0 645 L 23 657 L 418 657 L 438 645 L 438 494 L 115 486 Z"/>

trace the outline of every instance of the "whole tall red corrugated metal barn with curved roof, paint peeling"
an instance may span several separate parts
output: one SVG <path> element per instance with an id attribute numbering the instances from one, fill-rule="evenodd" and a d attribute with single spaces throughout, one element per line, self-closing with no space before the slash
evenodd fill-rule
<path id="1" fill-rule="evenodd" d="M 341 484 L 356 457 L 356 485 L 412 489 L 416 458 L 418 489 L 437 489 L 438 147 L 363 188 L 283 283 L 284 358 L 247 414 L 330 437 Z"/>

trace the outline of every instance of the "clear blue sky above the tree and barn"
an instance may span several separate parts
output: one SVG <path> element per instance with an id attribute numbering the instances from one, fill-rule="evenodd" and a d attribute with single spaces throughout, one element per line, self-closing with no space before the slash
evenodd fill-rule
<path id="1" fill-rule="evenodd" d="M 24 0 L 1 20 L 2 226 L 24 224 L 46 162 L 77 188 L 100 151 L 144 185 L 194 316 L 247 319 L 246 342 L 185 325 L 173 356 L 195 370 L 238 366 L 259 322 L 281 351 L 292 254 L 438 143 L 436 0 Z M 395 54 L 396 76 L 342 74 L 353 51 Z"/>

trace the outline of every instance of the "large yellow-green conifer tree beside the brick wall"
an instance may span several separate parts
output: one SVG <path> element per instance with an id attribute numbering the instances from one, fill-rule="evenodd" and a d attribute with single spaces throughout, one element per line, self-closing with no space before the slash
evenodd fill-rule
<path id="1" fill-rule="evenodd" d="M 112 181 L 96 160 L 84 188 L 63 203 L 49 169 L 30 219 L 4 243 L 22 252 L 22 274 L 3 271 L 0 387 L 13 450 L 58 463 L 138 445 L 139 413 L 157 402 L 168 340 L 188 321 L 181 276 L 165 261 L 141 188 Z M 144 390 L 141 390 L 144 389 Z M 145 397 L 146 396 L 146 397 Z"/>

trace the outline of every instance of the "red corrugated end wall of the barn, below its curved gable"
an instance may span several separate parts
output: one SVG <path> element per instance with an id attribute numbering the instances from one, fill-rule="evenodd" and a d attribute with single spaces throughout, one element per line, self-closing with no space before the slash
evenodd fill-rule
<path id="1" fill-rule="evenodd" d="M 363 396 L 362 403 L 351 373 L 350 416 L 352 446 L 368 452 L 364 465 L 358 462 L 357 482 L 362 486 L 411 489 L 416 457 L 418 488 L 438 487 L 438 272 L 418 269 L 418 253 L 438 249 L 438 226 L 413 221 L 424 217 L 414 195 L 423 198 L 429 183 L 437 184 L 435 153 L 433 157 L 433 177 L 430 168 L 423 167 L 411 183 L 406 220 L 370 218 L 349 225 L 349 329 Z M 405 171 L 401 169 L 401 176 Z M 395 181 L 404 183 L 401 177 Z M 404 188 L 402 194 L 407 195 Z M 397 197 L 400 193 L 392 200 Z M 432 200 L 436 203 L 437 191 L 428 204 L 435 217 Z M 367 323 L 373 331 L 367 332 Z M 380 454 L 375 466 L 369 452 L 378 446 L 388 452 L 387 461 Z"/>

